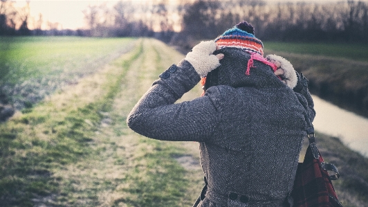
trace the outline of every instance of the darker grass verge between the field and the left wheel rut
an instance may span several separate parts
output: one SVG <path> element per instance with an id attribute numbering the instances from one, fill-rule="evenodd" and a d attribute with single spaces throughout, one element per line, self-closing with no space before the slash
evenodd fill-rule
<path id="1" fill-rule="evenodd" d="M 58 192 L 59 177 L 50 177 L 57 168 L 75 163 L 92 153 L 89 142 L 102 119 L 99 111 L 111 110 L 111 100 L 120 91 L 120 82 L 131 59 L 122 62 L 118 73 L 105 73 L 100 96 L 57 108 L 55 102 L 41 102 L 27 114 L 0 125 L 0 195 L 4 205 L 33 206 L 30 199 Z M 101 77 L 102 78 L 102 77 Z M 95 84 L 98 84 L 97 82 Z M 95 86 L 95 84 L 89 85 Z"/>

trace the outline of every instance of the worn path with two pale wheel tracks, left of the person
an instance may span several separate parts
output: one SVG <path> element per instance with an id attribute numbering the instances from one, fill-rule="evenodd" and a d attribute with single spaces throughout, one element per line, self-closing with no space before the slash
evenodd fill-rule
<path id="1" fill-rule="evenodd" d="M 37 206 L 192 205 L 201 190 L 203 177 L 198 143 L 151 141 L 132 132 L 126 125 L 127 114 L 158 74 L 181 58 L 181 54 L 162 42 L 154 39 L 142 40 L 142 52 L 129 64 L 111 110 L 102 112 L 100 126 L 89 144 L 94 153 L 86 159 L 57 170 L 53 176 L 59 178 L 59 184 L 63 186 L 60 194 L 35 199 Z M 111 72 L 120 69 L 116 67 L 107 70 Z M 200 90 L 194 89 L 183 100 L 199 94 Z M 155 150 L 158 149 L 164 153 L 157 154 Z M 154 158 L 147 159 L 148 155 Z M 157 159 L 167 160 L 160 165 Z M 181 188 L 184 192 L 174 192 L 173 196 L 167 195 L 170 192 L 154 192 L 163 189 L 153 189 L 151 192 L 138 190 L 142 188 L 139 182 L 143 182 L 144 186 L 151 185 L 150 188 L 175 187 L 175 181 L 168 187 L 162 186 L 170 183 L 166 179 L 149 180 L 160 177 L 160 174 L 170 174 L 169 170 L 173 169 L 181 174 L 183 182 L 189 183 L 185 188 Z"/>

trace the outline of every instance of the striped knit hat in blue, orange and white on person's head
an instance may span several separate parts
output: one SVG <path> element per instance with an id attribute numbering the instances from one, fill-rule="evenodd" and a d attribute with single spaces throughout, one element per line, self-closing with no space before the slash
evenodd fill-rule
<path id="1" fill-rule="evenodd" d="M 264 44 L 255 37 L 255 28 L 246 21 L 242 21 L 233 28 L 230 28 L 221 36 L 214 39 L 220 48 L 235 47 L 242 48 L 250 53 L 264 55 Z"/>

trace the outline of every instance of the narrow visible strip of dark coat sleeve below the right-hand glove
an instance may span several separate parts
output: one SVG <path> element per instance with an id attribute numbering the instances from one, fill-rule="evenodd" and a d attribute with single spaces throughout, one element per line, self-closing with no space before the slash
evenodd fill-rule
<path id="1" fill-rule="evenodd" d="M 297 73 L 297 86 L 293 90 L 297 95 L 297 98 L 306 109 L 311 122 L 313 122 L 315 118 L 313 98 L 311 96 L 311 93 L 309 93 L 308 80 L 304 77 L 303 73 L 301 75 Z"/>

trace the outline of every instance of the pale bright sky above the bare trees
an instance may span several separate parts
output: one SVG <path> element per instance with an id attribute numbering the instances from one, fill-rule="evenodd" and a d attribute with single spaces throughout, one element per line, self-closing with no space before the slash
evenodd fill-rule
<path id="1" fill-rule="evenodd" d="M 47 29 L 46 22 L 59 23 L 59 29 L 78 29 L 85 28 L 85 21 L 83 10 L 89 5 L 100 5 L 107 3 L 107 5 L 114 5 L 119 0 L 30 0 L 30 20 L 37 21 L 39 14 L 42 14 L 44 24 L 42 29 Z M 135 0 L 135 1 L 149 1 L 149 0 Z M 176 1 L 176 0 L 170 0 Z M 279 1 L 304 1 L 304 0 L 266 0 L 270 2 Z M 311 0 L 309 0 L 311 1 Z M 324 0 L 324 1 L 339 1 L 339 0 Z M 26 1 L 15 1 L 15 6 L 24 6 Z M 33 29 L 33 24 L 28 24 L 28 28 Z"/>

